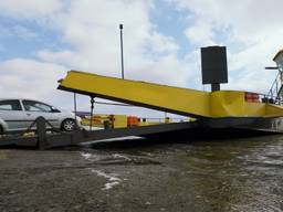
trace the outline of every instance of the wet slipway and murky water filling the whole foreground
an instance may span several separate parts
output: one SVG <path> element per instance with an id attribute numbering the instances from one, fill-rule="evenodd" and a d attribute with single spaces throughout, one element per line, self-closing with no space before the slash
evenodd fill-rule
<path id="1" fill-rule="evenodd" d="M 283 211 L 283 136 L 0 149 L 0 211 Z"/>

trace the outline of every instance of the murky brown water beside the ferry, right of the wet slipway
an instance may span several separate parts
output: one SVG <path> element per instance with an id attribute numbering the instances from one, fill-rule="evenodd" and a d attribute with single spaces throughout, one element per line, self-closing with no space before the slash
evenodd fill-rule
<path id="1" fill-rule="evenodd" d="M 156 166 L 157 171 L 143 171 L 167 183 L 159 192 L 176 195 L 184 211 L 283 211 L 283 136 L 167 144 L 115 141 L 95 144 L 84 151 L 103 165 Z M 157 195 L 157 202 L 158 198 L 164 197 Z"/>

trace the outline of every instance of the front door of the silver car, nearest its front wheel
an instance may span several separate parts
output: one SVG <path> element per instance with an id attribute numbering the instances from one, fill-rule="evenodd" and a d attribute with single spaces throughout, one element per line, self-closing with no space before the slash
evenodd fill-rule
<path id="1" fill-rule="evenodd" d="M 38 117 L 44 117 L 52 126 L 56 126 L 59 118 L 50 105 L 36 100 L 23 99 L 22 105 L 28 123 L 31 125 Z"/>

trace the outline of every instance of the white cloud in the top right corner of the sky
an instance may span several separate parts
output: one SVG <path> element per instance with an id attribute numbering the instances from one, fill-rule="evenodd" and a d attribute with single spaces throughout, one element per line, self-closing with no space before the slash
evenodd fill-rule
<path id="1" fill-rule="evenodd" d="M 277 0 L 171 0 L 179 9 L 192 11 L 196 23 L 191 28 L 203 26 L 210 33 L 229 28 L 234 40 L 244 43 L 261 41 L 263 35 L 273 34 L 273 29 L 281 25 L 281 8 Z M 202 29 L 205 30 L 205 29 Z M 197 31 L 196 31 L 197 33 Z"/>

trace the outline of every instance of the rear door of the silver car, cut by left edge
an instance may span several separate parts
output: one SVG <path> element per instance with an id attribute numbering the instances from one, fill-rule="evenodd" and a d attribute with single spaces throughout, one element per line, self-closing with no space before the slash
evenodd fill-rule
<path id="1" fill-rule="evenodd" d="M 19 99 L 0 100 L 0 118 L 4 120 L 9 131 L 27 128 L 25 115 Z"/>

